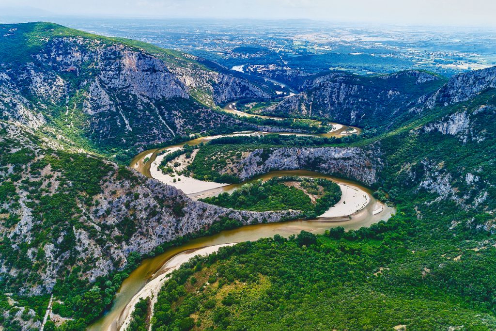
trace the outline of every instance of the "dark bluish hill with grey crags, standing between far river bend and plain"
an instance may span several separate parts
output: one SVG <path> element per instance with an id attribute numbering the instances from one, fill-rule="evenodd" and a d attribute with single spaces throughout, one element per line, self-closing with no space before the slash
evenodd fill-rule
<path id="1" fill-rule="evenodd" d="M 419 70 L 366 77 L 336 71 L 306 79 L 299 87 L 303 92 L 265 113 L 319 116 L 377 127 L 421 107 L 441 84 L 438 76 Z"/>

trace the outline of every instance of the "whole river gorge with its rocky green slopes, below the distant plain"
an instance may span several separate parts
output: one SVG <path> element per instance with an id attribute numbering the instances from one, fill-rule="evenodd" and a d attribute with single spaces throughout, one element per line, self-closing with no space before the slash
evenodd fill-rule
<path id="1" fill-rule="evenodd" d="M 239 72 L 53 23 L 0 31 L 3 330 L 496 327 L 495 67 Z M 201 201 L 277 178 L 341 198 Z"/>

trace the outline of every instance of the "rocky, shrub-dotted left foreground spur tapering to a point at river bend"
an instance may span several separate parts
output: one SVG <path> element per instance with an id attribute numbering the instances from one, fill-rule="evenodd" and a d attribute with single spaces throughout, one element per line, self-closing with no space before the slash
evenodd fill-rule
<path id="1" fill-rule="evenodd" d="M 0 121 L 0 132 L 0 272 L 21 293 L 50 292 L 75 265 L 94 281 L 122 268 L 131 252 L 150 253 L 223 219 L 254 224 L 298 214 L 194 201 L 95 156 L 50 149 L 28 128 Z"/>

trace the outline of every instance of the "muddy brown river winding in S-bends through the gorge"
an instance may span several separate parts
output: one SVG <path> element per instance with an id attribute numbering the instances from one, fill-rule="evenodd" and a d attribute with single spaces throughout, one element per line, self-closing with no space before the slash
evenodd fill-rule
<path id="1" fill-rule="evenodd" d="M 349 130 L 349 127 L 343 126 L 343 128 L 346 128 L 343 131 Z M 357 133 L 359 132 L 360 131 Z M 243 132 L 240 134 L 246 133 L 247 132 Z M 266 133 L 267 132 L 249 132 L 249 134 Z M 163 151 L 173 147 L 183 146 L 185 143 L 188 145 L 197 145 L 200 142 L 205 142 L 211 140 L 212 138 L 214 137 L 202 137 L 177 145 L 143 151 L 133 158 L 130 167 L 139 171 L 146 177 L 152 178 L 150 172 L 152 164 L 157 156 Z M 147 159 L 146 162 L 144 162 L 145 159 Z M 339 214 L 339 212 L 341 212 L 339 208 L 333 209 L 333 213 L 331 210 L 333 207 L 331 207 L 331 209 L 329 209 L 330 214 L 327 214 L 326 212 L 324 215 L 321 215 L 321 217 L 313 220 L 293 220 L 281 223 L 247 225 L 233 230 L 222 231 L 212 236 L 191 240 L 182 246 L 170 248 L 156 257 L 146 259 L 141 265 L 131 272 L 129 277 L 123 281 L 119 291 L 116 294 L 111 310 L 88 329 L 92 331 L 114 331 L 125 329 L 126 323 L 128 323 L 129 320 L 128 316 L 138 299 L 140 297 L 146 297 L 150 294 L 154 294 L 156 297 L 156 293 L 160 289 L 161 284 L 167 278 L 167 273 L 178 268 L 183 262 L 187 261 L 196 254 L 208 254 L 216 251 L 222 246 L 232 245 L 234 243 L 248 240 L 255 241 L 260 238 L 272 237 L 275 234 L 288 237 L 292 234 L 298 234 L 302 230 L 320 234 L 331 227 L 337 226 L 342 226 L 346 230 L 359 229 L 364 226 L 370 226 L 380 220 L 387 220 L 392 214 L 395 213 L 394 207 L 390 207 L 374 199 L 370 189 L 357 182 L 343 180 L 306 170 L 273 171 L 245 181 L 241 184 L 225 185 L 211 190 L 195 192 L 189 194 L 188 196 L 192 199 L 198 199 L 201 197 L 217 195 L 222 192 L 232 192 L 243 184 L 258 179 L 266 181 L 273 177 L 295 175 L 314 178 L 327 178 L 340 185 L 343 190 L 342 200 L 353 199 L 353 197 L 362 195 L 362 201 L 365 202 L 363 202 L 363 205 L 360 205 L 357 210 L 354 210 L 351 213 Z M 338 202 L 337 205 L 339 204 L 343 206 L 343 201 Z M 339 215 L 336 214 L 336 212 Z"/>

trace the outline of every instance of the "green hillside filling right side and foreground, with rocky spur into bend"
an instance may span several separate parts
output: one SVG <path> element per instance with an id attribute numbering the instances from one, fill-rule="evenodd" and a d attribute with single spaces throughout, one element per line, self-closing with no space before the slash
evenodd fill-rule
<path id="1" fill-rule="evenodd" d="M 493 330 L 492 71 L 455 78 L 456 90 L 452 82 L 443 87 L 452 102 L 437 101 L 395 131 L 355 138 L 355 148 L 373 151 L 370 160 L 361 164 L 343 151 L 334 159 L 353 164 L 343 167 L 353 169 L 348 177 L 368 173 L 375 195 L 395 203 L 393 218 L 358 231 L 275 236 L 198 259 L 164 285 L 152 330 L 188 323 L 193 330 Z M 475 88 L 474 75 L 485 87 Z M 472 97 L 458 96 L 468 90 Z M 208 169 L 210 158 L 227 155 L 224 171 L 240 177 L 274 162 L 342 175 L 341 167 L 328 166 L 335 147 L 288 148 L 260 138 L 256 150 L 254 141 L 233 141 L 204 147 L 209 152 L 198 155 L 205 160 L 195 162 Z M 249 153 L 240 156 L 244 144 Z M 184 292 L 171 295 L 175 288 Z"/>

